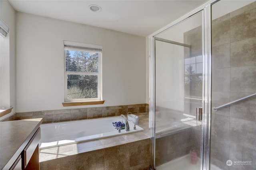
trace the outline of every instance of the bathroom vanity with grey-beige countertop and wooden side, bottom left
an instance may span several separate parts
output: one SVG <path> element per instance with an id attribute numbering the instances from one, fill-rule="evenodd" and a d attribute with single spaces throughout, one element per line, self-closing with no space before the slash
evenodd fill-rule
<path id="1" fill-rule="evenodd" d="M 0 170 L 39 170 L 42 118 L 0 122 Z"/>

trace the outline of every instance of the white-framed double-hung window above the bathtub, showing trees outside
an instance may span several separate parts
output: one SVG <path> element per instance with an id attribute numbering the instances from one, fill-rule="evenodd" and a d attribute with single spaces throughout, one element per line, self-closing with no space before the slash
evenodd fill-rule
<path id="1" fill-rule="evenodd" d="M 102 46 L 64 41 L 65 102 L 102 100 Z"/>

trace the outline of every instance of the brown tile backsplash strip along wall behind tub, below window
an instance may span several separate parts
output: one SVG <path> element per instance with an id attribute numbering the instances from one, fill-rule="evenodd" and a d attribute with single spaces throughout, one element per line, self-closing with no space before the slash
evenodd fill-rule
<path id="1" fill-rule="evenodd" d="M 148 113 L 148 104 L 17 112 L 11 117 L 6 118 L 4 121 L 34 119 L 42 117 L 43 123 L 52 123 L 59 121 L 72 121 L 98 117 L 118 116 L 120 114 L 126 115 L 129 111 L 133 114 L 144 112 Z"/>

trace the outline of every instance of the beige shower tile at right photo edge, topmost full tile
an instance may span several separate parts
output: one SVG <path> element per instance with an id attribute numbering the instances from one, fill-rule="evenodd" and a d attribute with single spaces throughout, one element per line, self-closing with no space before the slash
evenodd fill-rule
<path id="1" fill-rule="evenodd" d="M 256 8 L 230 18 L 230 41 L 256 37 Z"/>

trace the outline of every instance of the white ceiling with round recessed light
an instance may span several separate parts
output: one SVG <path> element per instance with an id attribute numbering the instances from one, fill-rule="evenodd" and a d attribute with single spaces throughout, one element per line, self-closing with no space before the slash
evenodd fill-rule
<path id="1" fill-rule="evenodd" d="M 147 36 L 206 0 L 8 0 L 16 11 Z M 102 8 L 92 12 L 90 5 Z"/>

